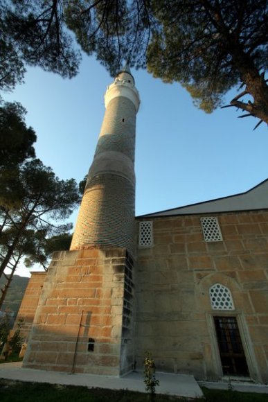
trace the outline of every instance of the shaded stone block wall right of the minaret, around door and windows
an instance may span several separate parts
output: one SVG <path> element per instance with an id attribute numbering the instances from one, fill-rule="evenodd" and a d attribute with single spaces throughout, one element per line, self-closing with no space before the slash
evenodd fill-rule
<path id="1" fill-rule="evenodd" d="M 223 241 L 204 241 L 200 216 L 152 220 L 154 245 L 136 268 L 136 360 L 146 350 L 157 369 L 222 377 L 213 316 L 236 317 L 253 380 L 268 381 L 268 212 L 218 216 Z M 139 219 L 137 220 L 136 233 Z M 229 288 L 234 311 L 215 311 L 209 288 Z"/>

